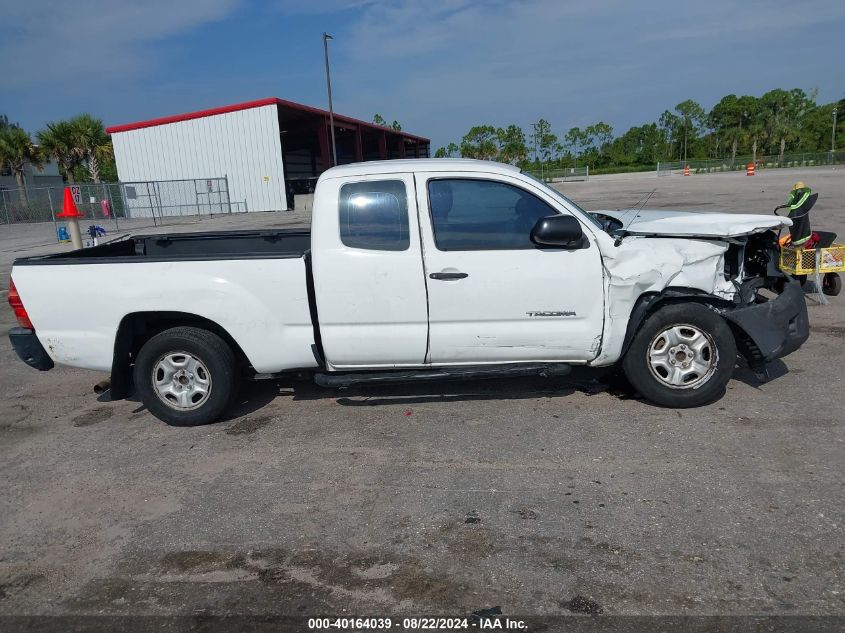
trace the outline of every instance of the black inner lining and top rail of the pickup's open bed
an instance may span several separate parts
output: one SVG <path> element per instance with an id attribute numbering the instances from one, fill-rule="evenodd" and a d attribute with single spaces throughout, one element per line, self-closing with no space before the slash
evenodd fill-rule
<path id="1" fill-rule="evenodd" d="M 15 266 L 214 259 L 288 259 L 311 248 L 311 231 L 275 229 L 136 235 L 77 251 L 18 259 Z"/>

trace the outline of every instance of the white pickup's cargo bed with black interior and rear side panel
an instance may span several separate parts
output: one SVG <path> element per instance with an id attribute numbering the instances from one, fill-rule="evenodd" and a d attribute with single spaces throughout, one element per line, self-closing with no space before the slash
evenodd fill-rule
<path id="1" fill-rule="evenodd" d="M 110 371 L 126 317 L 153 315 L 214 323 L 274 373 L 317 364 L 309 247 L 307 230 L 139 235 L 19 259 L 12 278 L 55 363 Z"/>

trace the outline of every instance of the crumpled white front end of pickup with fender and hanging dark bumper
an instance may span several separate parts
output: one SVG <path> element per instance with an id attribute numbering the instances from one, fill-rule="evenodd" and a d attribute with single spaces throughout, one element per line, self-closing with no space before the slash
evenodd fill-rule
<path id="1" fill-rule="evenodd" d="M 809 336 L 801 285 L 778 268 L 773 230 L 718 239 L 630 235 L 617 237 L 603 256 L 608 325 L 602 355 L 593 365 L 622 358 L 642 323 L 667 303 L 695 302 L 718 313 L 731 327 L 739 353 L 757 373 L 764 373 L 767 362 L 798 349 Z"/>

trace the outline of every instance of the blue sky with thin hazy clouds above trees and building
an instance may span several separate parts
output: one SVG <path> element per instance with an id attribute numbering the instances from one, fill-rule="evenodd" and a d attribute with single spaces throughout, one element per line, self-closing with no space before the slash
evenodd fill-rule
<path id="1" fill-rule="evenodd" d="M 433 146 L 545 118 L 621 134 L 685 99 L 845 97 L 842 0 L 0 0 L 0 114 L 34 132 L 281 97 Z"/>

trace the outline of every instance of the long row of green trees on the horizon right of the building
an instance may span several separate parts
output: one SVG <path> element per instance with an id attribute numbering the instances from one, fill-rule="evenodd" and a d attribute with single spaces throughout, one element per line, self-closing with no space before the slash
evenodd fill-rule
<path id="1" fill-rule="evenodd" d="M 726 159 L 738 155 L 756 160 L 765 153 L 823 152 L 831 149 L 834 110 L 837 141 L 842 139 L 845 99 L 817 104 L 816 92 L 799 88 L 770 90 L 761 97 L 727 95 L 708 112 L 687 99 L 665 110 L 652 123 L 633 126 L 614 136 L 609 123 L 599 121 L 562 134 L 540 119 L 528 134 L 518 125 L 476 125 L 460 143 L 439 148 L 435 157 L 497 160 L 523 168 L 578 167 L 591 170 L 653 168 L 658 161 Z M 841 143 L 841 141 L 840 141 Z"/>

